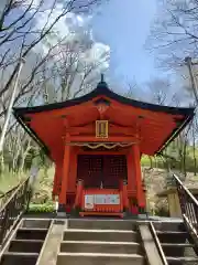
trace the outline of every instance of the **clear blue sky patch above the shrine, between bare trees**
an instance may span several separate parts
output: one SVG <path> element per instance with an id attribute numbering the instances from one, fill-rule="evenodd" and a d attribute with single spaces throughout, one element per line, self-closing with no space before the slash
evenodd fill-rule
<path id="1" fill-rule="evenodd" d="M 94 18 L 94 35 L 111 49 L 111 76 L 139 84 L 158 76 L 143 46 L 155 13 L 156 0 L 110 0 Z"/>

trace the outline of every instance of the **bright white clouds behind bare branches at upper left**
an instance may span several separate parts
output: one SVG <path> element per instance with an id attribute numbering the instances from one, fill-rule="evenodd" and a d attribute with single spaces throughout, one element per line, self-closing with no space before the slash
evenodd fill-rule
<path id="1" fill-rule="evenodd" d="M 40 0 L 35 0 L 35 2 L 38 1 Z M 63 4 L 56 4 L 53 15 L 51 15 L 51 19 L 48 21 L 48 24 L 52 23 L 52 21 L 54 21 L 54 19 L 62 13 L 62 10 Z M 50 12 L 50 10 L 45 11 L 44 13 L 42 13 L 42 15 L 37 18 L 35 28 L 42 29 L 44 26 Z M 50 49 L 50 45 L 54 45 L 58 39 L 63 39 L 64 36 L 67 36 L 67 41 L 84 40 L 85 43 L 92 43 L 92 45 L 90 46 L 90 49 L 87 49 L 87 51 L 81 54 L 81 60 L 90 64 L 100 62 L 101 68 L 108 68 L 110 47 L 103 43 L 95 42 L 92 30 L 90 29 L 91 19 L 91 15 L 79 15 L 72 12 L 67 13 L 53 28 L 53 31 L 57 33 L 56 36 L 53 38 L 51 35 L 46 38 L 40 49 L 42 49 L 43 52 L 46 53 Z"/>

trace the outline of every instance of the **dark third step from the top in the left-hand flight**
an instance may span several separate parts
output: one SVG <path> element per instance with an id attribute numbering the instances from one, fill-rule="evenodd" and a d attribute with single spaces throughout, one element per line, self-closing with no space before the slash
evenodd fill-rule
<path id="1" fill-rule="evenodd" d="M 41 240 L 12 240 L 9 252 L 40 253 L 43 242 Z"/>

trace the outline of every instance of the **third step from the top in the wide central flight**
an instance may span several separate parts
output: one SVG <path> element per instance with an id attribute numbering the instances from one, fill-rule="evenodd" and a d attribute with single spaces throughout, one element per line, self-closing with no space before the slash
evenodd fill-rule
<path id="1" fill-rule="evenodd" d="M 61 252 L 142 254 L 142 248 L 135 242 L 64 241 Z"/>

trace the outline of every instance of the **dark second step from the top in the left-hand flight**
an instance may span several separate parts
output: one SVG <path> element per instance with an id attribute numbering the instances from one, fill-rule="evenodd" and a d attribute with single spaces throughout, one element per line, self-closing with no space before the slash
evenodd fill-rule
<path id="1" fill-rule="evenodd" d="M 45 240 L 47 229 L 21 227 L 16 232 L 16 240 Z"/>

